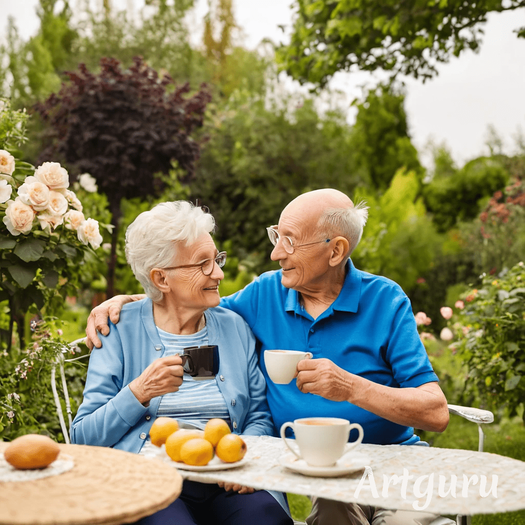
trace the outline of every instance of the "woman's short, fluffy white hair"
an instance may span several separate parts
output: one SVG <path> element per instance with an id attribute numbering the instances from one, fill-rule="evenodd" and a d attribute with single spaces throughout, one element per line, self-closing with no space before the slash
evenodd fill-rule
<path id="1" fill-rule="evenodd" d="M 160 301 L 162 292 L 154 286 L 150 271 L 173 265 L 177 243 L 186 246 L 203 233 L 211 233 L 215 220 L 191 202 L 157 204 L 141 213 L 126 230 L 125 253 L 133 274 L 152 301 Z"/>

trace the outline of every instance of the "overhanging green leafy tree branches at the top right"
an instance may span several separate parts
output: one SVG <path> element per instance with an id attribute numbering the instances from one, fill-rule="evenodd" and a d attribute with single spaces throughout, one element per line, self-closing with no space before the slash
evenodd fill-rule
<path id="1" fill-rule="evenodd" d="M 290 44 L 277 57 L 293 78 L 321 87 L 336 71 L 355 68 L 425 81 L 438 62 L 479 49 L 489 13 L 523 6 L 524 0 L 296 0 Z M 517 34 L 525 37 L 525 27 Z"/>

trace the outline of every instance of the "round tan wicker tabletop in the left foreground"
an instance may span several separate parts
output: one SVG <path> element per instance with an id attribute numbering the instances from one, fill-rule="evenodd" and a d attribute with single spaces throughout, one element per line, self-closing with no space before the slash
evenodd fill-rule
<path id="1" fill-rule="evenodd" d="M 0 443 L 0 454 L 8 443 Z M 1 525 L 117 525 L 161 510 L 182 477 L 157 459 L 122 450 L 60 445 L 75 466 L 32 481 L 0 481 Z"/>

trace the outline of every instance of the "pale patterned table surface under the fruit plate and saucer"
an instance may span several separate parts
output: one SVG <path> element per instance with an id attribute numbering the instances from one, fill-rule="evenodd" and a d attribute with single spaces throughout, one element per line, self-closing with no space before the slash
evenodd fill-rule
<path id="1" fill-rule="evenodd" d="M 355 450 L 370 458 L 367 465 L 370 469 L 361 468 L 337 478 L 322 478 L 297 474 L 281 466 L 280 458 L 289 454 L 281 439 L 268 436 L 243 438 L 248 446 L 246 457 L 250 459 L 244 466 L 208 472 L 178 469 L 178 472 L 183 478 L 194 481 L 230 481 L 257 489 L 280 490 L 389 509 L 413 510 L 415 505 L 418 510 L 427 512 L 464 515 L 525 509 L 525 462 L 498 454 L 437 447 L 363 444 Z M 142 453 L 156 455 L 165 463 L 177 466 L 165 456 L 163 450 L 152 445 Z M 401 478 L 404 474 L 407 475 L 404 482 L 400 479 L 397 484 L 393 483 L 392 476 Z M 457 478 L 455 497 L 450 491 L 453 476 Z M 470 480 L 466 491 L 464 476 Z M 497 476 L 497 481 L 493 476 Z M 363 477 L 362 487 L 356 493 Z M 390 480 L 387 490 L 384 478 Z M 441 489 L 440 481 L 443 485 Z M 480 491 L 488 495 L 482 496 Z"/>

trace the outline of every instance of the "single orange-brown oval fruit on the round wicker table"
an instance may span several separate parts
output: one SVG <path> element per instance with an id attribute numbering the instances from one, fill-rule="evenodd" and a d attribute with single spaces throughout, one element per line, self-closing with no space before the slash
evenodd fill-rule
<path id="1" fill-rule="evenodd" d="M 47 436 L 26 434 L 13 439 L 4 450 L 7 463 L 18 469 L 47 467 L 57 459 L 60 447 Z"/>

